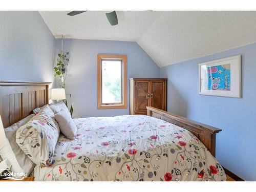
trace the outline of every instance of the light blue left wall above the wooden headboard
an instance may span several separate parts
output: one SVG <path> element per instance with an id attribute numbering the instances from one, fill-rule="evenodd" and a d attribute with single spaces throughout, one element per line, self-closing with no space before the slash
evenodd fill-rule
<path id="1" fill-rule="evenodd" d="M 0 28 L 0 80 L 54 80 L 55 38 L 38 11 L 0 11 Z"/>

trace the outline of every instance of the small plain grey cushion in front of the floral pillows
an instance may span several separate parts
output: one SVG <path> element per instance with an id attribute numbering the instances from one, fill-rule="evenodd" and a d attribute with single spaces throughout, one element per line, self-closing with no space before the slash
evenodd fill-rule
<path id="1" fill-rule="evenodd" d="M 70 115 L 70 113 L 61 110 L 59 113 L 55 114 L 55 119 L 59 124 L 59 129 L 63 135 L 68 139 L 74 140 L 77 132 L 77 127 Z"/>

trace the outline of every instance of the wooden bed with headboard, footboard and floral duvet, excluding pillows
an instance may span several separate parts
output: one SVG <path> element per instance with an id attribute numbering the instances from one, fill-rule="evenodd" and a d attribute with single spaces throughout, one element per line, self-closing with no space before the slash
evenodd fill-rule
<path id="1" fill-rule="evenodd" d="M 4 126 L 48 103 L 48 82 L 0 82 Z M 4 109 L 4 110 L 3 110 Z M 59 136 L 51 166 L 36 181 L 225 181 L 215 159 L 221 131 L 152 107 L 147 116 L 74 119 L 76 138 Z"/>

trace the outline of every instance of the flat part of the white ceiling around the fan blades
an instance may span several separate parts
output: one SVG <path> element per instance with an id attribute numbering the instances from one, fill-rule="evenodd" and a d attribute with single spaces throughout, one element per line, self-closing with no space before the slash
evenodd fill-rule
<path id="1" fill-rule="evenodd" d="M 116 11 L 118 25 L 111 26 L 107 11 L 87 11 L 69 16 L 70 11 L 39 11 L 54 34 L 66 38 L 136 41 L 162 12 Z M 111 11 L 108 11 L 111 12 Z"/>

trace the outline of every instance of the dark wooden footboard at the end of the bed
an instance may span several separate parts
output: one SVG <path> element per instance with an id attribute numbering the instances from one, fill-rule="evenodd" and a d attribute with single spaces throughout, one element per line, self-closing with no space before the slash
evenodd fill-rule
<path id="1" fill-rule="evenodd" d="M 166 111 L 153 108 L 152 106 L 147 106 L 146 109 L 148 116 L 162 119 L 193 133 L 202 143 L 204 143 L 210 153 L 215 157 L 216 134 L 219 133 L 221 129 L 193 121 L 173 113 L 168 113 Z"/>

